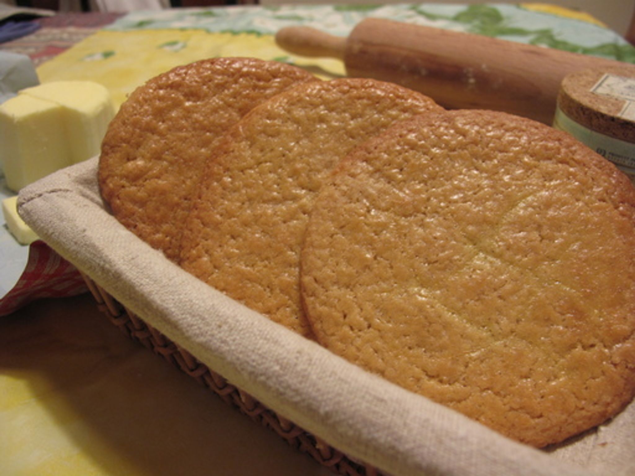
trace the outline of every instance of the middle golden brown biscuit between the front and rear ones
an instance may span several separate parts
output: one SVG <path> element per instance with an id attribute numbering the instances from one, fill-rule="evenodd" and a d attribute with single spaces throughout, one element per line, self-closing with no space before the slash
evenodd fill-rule
<path id="1" fill-rule="evenodd" d="M 185 270 L 303 335 L 298 260 L 314 195 L 355 145 L 441 109 L 371 79 L 302 84 L 237 122 L 210 161 L 182 241 Z"/>

